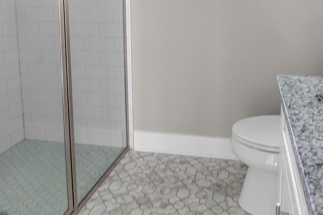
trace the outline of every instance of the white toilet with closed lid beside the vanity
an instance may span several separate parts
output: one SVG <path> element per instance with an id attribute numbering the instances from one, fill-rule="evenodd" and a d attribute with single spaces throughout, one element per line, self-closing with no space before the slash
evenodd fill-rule
<path id="1" fill-rule="evenodd" d="M 280 115 L 245 118 L 232 127 L 231 148 L 249 167 L 238 202 L 253 215 L 276 212 L 279 146 Z"/>

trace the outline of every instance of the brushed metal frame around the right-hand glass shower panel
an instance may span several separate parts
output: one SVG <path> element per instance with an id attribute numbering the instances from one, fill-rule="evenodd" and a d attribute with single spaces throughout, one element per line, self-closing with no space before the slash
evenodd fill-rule
<path id="1" fill-rule="evenodd" d="M 125 104 L 126 104 L 126 139 L 127 147 L 119 155 L 116 161 L 105 171 L 100 179 L 94 184 L 92 190 L 78 204 L 76 186 L 76 162 L 75 162 L 75 139 L 72 104 L 72 76 L 71 76 L 71 52 L 70 52 L 70 30 L 68 16 L 68 0 L 59 0 L 59 24 L 60 24 L 60 45 L 61 45 L 61 69 L 63 86 L 63 108 L 65 127 L 65 148 L 67 166 L 67 188 L 68 188 L 68 210 L 65 215 L 77 214 L 91 197 L 95 190 L 103 183 L 121 158 L 129 151 L 129 105 L 128 105 L 128 72 L 127 72 L 127 28 L 126 28 L 126 0 L 123 4 L 123 36 L 124 36 L 124 70 L 125 70 Z"/>

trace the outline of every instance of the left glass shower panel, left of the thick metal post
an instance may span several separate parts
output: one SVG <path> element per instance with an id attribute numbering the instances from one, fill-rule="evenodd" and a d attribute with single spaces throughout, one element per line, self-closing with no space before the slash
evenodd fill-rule
<path id="1" fill-rule="evenodd" d="M 64 214 L 58 1 L 3 0 L 0 8 L 0 214 Z"/>

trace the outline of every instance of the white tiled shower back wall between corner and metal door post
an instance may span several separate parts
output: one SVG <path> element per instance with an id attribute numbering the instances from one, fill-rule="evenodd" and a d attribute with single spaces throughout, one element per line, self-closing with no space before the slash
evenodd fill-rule
<path id="1" fill-rule="evenodd" d="M 64 141 L 58 4 L 16 5 L 25 136 Z"/>

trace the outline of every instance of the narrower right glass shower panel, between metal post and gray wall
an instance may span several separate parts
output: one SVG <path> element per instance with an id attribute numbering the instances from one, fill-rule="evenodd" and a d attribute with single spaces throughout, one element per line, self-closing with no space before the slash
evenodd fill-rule
<path id="1" fill-rule="evenodd" d="M 123 1 L 70 0 L 77 198 L 127 147 Z"/>

